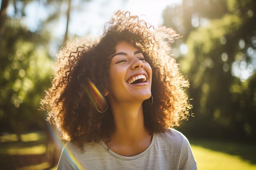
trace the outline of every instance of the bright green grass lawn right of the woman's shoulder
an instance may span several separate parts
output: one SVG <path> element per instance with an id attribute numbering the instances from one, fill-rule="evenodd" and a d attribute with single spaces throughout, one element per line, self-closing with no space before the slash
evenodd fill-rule
<path id="1" fill-rule="evenodd" d="M 198 170 L 256 170 L 256 145 L 191 140 Z"/>

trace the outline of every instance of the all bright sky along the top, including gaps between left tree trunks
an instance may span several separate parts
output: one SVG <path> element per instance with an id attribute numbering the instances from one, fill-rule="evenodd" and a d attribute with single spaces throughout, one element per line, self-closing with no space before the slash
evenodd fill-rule
<path id="1" fill-rule="evenodd" d="M 1 0 L 0 0 L 1 1 Z M 48 15 L 55 9 L 45 8 L 40 1 L 32 1 L 25 8 L 26 17 L 24 22 L 31 31 L 38 29 L 40 21 L 46 20 Z M 61 16 L 51 24 L 47 29 L 52 32 L 55 38 L 63 37 L 66 28 L 67 1 L 61 3 Z M 169 6 L 181 4 L 182 0 L 72 0 L 72 9 L 70 13 L 70 35 L 84 36 L 90 33 L 97 36 L 101 32 L 101 26 L 107 22 L 113 13 L 118 9 L 130 11 L 136 15 L 145 15 L 145 19 L 155 26 L 162 24 L 162 12 Z M 13 15 L 14 7 L 10 4 L 7 9 L 7 15 Z"/>

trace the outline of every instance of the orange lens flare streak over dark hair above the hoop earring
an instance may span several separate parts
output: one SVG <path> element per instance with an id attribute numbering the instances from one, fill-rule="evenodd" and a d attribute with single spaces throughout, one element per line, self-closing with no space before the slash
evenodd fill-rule
<path id="1" fill-rule="evenodd" d="M 108 104 L 106 102 L 106 99 L 103 97 L 103 95 L 99 92 L 97 87 L 90 81 L 90 79 L 87 79 L 87 86 L 85 86 L 85 91 L 87 95 L 89 96 L 90 100 L 94 104 L 94 106 L 97 108 L 99 112 L 104 112 L 108 108 Z"/>

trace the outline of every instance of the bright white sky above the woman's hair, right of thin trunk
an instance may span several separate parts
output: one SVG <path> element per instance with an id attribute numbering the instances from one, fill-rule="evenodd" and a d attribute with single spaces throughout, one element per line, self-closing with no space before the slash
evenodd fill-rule
<path id="1" fill-rule="evenodd" d="M 74 1 L 76 3 L 77 0 Z M 136 15 L 145 15 L 144 19 L 153 25 L 162 24 L 162 12 L 166 6 L 181 3 L 181 0 L 93 0 L 87 3 L 88 10 L 73 11 L 70 33 L 98 35 L 103 23 L 108 21 L 114 11 L 121 9 Z"/>

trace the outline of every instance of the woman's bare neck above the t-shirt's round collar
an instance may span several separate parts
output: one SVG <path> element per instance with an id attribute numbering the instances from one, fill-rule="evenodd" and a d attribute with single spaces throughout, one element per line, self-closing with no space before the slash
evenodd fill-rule
<path id="1" fill-rule="evenodd" d="M 152 137 L 144 125 L 142 102 L 110 101 L 115 131 L 110 135 L 110 148 L 123 156 L 137 155 L 151 143 Z M 103 141 L 108 141 L 103 138 Z"/>

